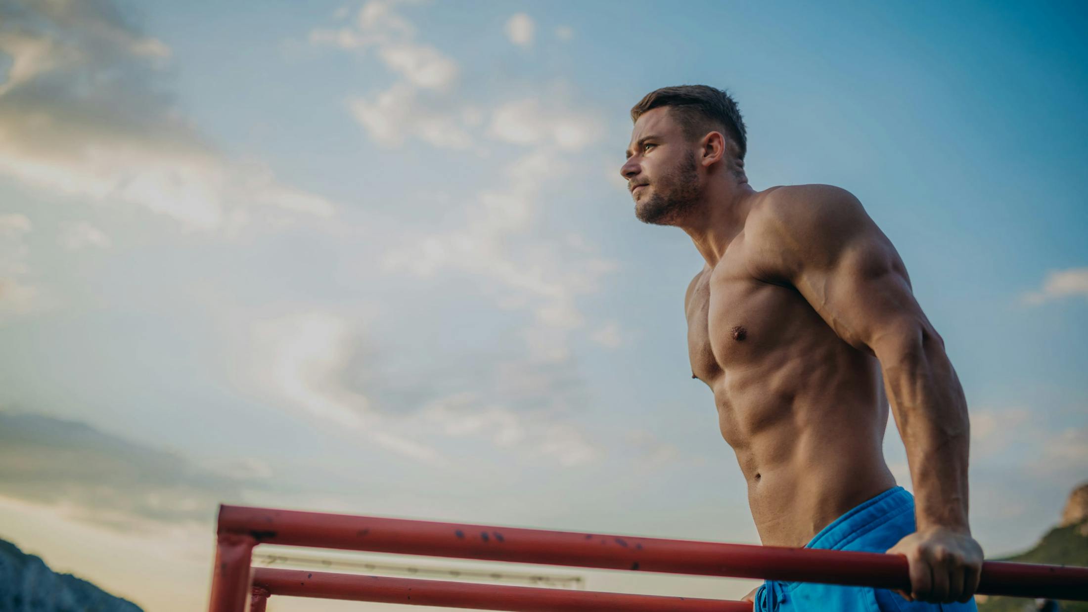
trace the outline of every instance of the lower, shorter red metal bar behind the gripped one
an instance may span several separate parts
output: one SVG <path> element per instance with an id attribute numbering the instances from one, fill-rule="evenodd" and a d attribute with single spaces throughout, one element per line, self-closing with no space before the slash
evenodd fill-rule
<path id="1" fill-rule="evenodd" d="M 447 580 L 330 574 L 305 570 L 257 567 L 254 584 L 271 595 L 380 601 L 409 605 L 444 605 L 516 612 L 752 612 L 744 601 L 693 599 L 619 592 L 478 585 Z"/>

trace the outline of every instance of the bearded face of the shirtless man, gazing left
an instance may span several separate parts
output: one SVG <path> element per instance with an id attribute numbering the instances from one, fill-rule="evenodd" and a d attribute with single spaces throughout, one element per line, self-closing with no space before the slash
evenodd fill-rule
<path id="1" fill-rule="evenodd" d="M 643 223 L 676 225 L 700 201 L 695 150 L 668 107 L 639 116 L 620 168 Z"/>

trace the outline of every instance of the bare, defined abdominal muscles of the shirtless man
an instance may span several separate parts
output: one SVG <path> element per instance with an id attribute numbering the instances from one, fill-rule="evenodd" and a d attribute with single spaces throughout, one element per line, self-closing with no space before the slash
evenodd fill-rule
<path id="1" fill-rule="evenodd" d="M 894 485 L 882 454 L 888 422 L 879 364 L 844 344 L 712 383 L 721 436 L 737 454 L 765 545 L 804 546 L 825 525 Z"/>

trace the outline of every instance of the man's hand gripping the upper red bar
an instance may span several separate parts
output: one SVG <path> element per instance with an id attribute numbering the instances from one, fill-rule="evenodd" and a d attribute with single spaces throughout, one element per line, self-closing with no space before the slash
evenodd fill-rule
<path id="1" fill-rule="evenodd" d="M 911 565 L 911 592 L 899 591 L 907 601 L 967 601 L 978 588 L 982 547 L 968 533 L 923 529 L 899 540 L 888 553 L 902 554 Z"/>

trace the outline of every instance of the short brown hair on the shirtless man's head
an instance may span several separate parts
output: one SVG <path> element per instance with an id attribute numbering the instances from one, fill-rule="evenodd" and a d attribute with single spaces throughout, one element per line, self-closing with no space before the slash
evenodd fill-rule
<path id="1" fill-rule="evenodd" d="M 737 145 L 739 157 L 744 160 L 747 152 L 747 136 L 744 118 L 737 108 L 737 101 L 729 93 L 707 85 L 680 85 L 662 87 L 646 93 L 646 97 L 631 108 L 631 121 L 639 121 L 642 113 L 669 107 L 683 127 L 684 136 L 690 140 L 702 137 L 720 125 L 729 138 Z"/>

